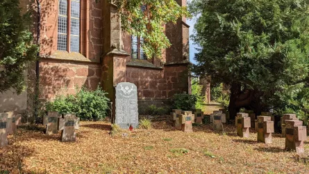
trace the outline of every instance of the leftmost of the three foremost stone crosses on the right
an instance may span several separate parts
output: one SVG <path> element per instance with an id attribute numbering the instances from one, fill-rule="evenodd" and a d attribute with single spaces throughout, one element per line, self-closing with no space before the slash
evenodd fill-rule
<path id="1" fill-rule="evenodd" d="M 249 137 L 249 128 L 251 127 L 251 118 L 248 113 L 237 113 L 236 121 L 237 122 L 237 135 L 248 138 Z"/>

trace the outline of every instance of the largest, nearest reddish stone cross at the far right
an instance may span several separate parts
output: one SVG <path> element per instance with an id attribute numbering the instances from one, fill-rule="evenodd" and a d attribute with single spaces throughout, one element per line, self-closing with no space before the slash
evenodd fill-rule
<path id="1" fill-rule="evenodd" d="M 303 141 L 307 140 L 307 129 L 300 120 L 285 120 L 285 149 L 305 152 Z"/>

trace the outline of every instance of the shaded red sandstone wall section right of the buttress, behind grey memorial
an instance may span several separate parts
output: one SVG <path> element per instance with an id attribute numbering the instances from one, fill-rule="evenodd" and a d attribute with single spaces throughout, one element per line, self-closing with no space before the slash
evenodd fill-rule
<path id="1" fill-rule="evenodd" d="M 126 68 L 126 81 L 137 86 L 139 99 L 168 99 L 176 93 L 188 93 L 187 65 L 164 70 Z"/>

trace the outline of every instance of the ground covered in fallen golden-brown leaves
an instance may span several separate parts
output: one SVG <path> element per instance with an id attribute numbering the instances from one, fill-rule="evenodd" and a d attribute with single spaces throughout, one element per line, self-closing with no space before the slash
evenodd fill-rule
<path id="1" fill-rule="evenodd" d="M 107 122 L 81 122 L 75 143 L 47 136 L 42 127 L 19 127 L 0 148 L 2 173 L 308 173 L 309 142 L 299 157 L 283 150 L 285 139 L 274 143 L 237 137 L 233 125 L 215 133 L 210 125 L 193 133 L 174 129 L 165 121 L 153 129 L 135 129 L 110 136 Z M 0 172 L 0 173 L 1 173 Z"/>

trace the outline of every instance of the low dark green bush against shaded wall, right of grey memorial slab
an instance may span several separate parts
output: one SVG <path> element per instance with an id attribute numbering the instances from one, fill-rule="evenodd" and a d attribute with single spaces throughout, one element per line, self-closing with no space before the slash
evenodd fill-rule
<path id="1" fill-rule="evenodd" d="M 176 94 L 173 96 L 173 109 L 182 109 L 183 111 L 191 111 L 197 102 L 195 95 L 186 93 Z"/>

